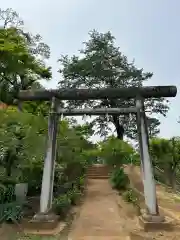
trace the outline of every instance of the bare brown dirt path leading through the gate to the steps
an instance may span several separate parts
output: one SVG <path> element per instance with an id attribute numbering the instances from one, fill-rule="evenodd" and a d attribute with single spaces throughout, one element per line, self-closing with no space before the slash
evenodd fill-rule
<path id="1" fill-rule="evenodd" d="M 79 218 L 68 240 L 115 240 L 126 238 L 127 219 L 119 214 L 116 196 L 108 180 L 89 180 Z"/>

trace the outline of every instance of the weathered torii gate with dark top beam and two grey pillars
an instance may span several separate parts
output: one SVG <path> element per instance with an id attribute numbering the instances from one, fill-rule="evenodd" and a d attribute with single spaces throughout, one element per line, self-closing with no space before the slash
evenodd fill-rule
<path id="1" fill-rule="evenodd" d="M 56 159 L 56 134 L 60 115 L 124 115 L 135 114 L 137 117 L 137 131 L 139 136 L 141 167 L 143 173 L 144 196 L 150 216 L 159 217 L 156 199 L 156 188 L 149 155 L 148 130 L 146 114 L 144 110 L 144 99 L 175 97 L 177 88 L 175 86 L 148 86 L 129 88 L 104 88 L 104 89 L 58 89 L 58 90 L 36 90 L 21 91 L 18 101 L 51 101 L 48 121 L 48 144 L 44 160 L 42 178 L 40 213 L 41 219 L 48 219 L 52 208 L 54 166 Z M 95 99 L 135 99 L 135 106 L 130 108 L 95 108 L 95 109 L 62 109 L 58 106 L 58 100 L 95 100 Z M 151 218 L 152 219 L 152 218 Z M 157 221 L 157 219 L 155 220 Z"/>

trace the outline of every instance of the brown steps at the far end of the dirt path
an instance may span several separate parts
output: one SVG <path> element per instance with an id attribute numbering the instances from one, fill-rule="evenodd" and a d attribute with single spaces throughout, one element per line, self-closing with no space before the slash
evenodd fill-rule
<path id="1" fill-rule="evenodd" d="M 104 164 L 94 164 L 89 166 L 87 171 L 88 179 L 108 179 L 110 167 Z"/>

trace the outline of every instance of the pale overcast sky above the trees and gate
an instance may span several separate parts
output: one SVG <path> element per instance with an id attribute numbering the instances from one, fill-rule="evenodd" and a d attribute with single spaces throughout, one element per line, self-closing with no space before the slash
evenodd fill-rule
<path id="1" fill-rule="evenodd" d="M 54 88 L 59 75 L 57 59 L 75 54 L 96 29 L 111 31 L 116 44 L 138 67 L 152 71 L 149 85 L 180 84 L 180 1 L 178 0 L 5 0 L 32 33 L 42 35 L 51 47 L 49 64 Z M 167 118 L 161 117 L 161 136 L 180 135 L 180 96 L 171 100 Z"/>

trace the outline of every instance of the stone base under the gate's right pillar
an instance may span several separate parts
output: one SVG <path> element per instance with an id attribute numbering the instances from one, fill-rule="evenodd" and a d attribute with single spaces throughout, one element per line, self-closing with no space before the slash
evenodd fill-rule
<path id="1" fill-rule="evenodd" d="M 139 224 L 144 229 L 144 231 L 172 231 L 173 220 L 165 218 L 161 215 L 150 215 L 146 211 L 141 211 L 141 216 L 139 216 Z"/>

